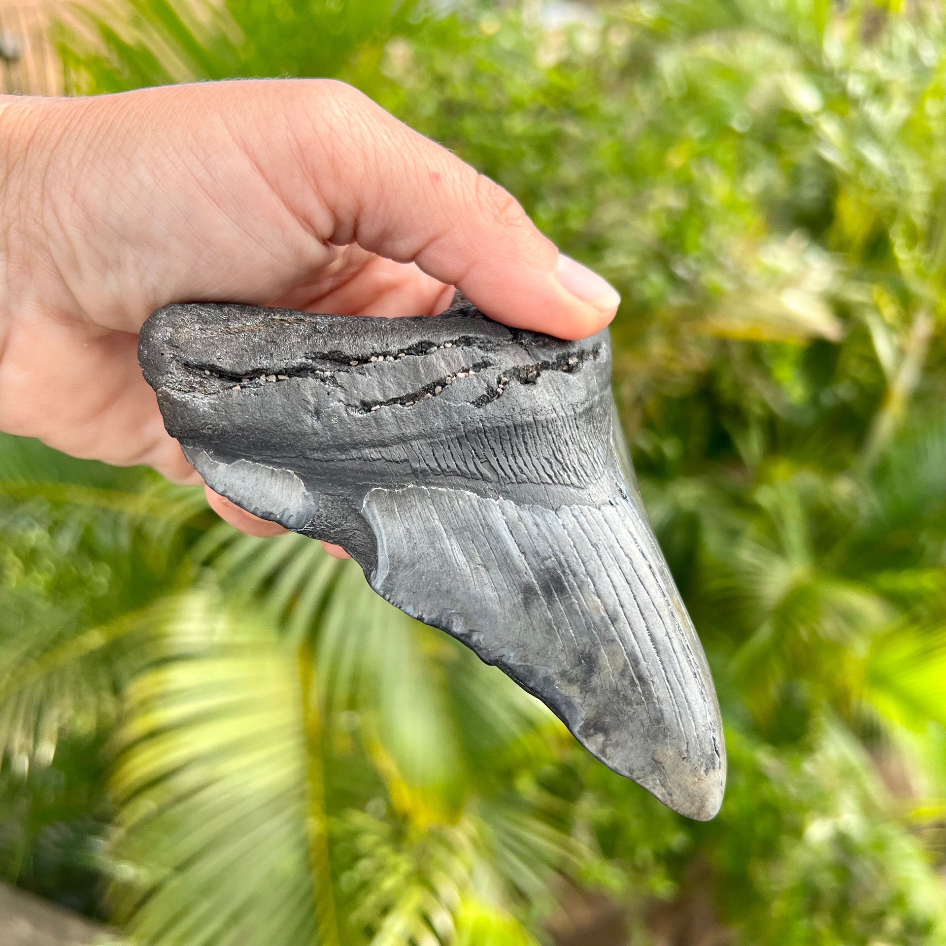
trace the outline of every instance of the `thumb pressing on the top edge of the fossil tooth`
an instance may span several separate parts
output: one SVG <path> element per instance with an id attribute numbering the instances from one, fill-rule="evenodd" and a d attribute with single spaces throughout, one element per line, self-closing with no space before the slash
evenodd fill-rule
<path id="1" fill-rule="evenodd" d="M 317 84 L 330 101 L 312 131 L 325 140 L 327 112 L 334 139 L 326 162 L 334 180 L 320 187 L 335 220 L 331 242 L 414 262 L 518 328 L 574 340 L 611 321 L 617 291 L 559 254 L 499 184 L 350 86 Z M 324 170 L 311 168 L 313 178 L 324 181 Z"/>

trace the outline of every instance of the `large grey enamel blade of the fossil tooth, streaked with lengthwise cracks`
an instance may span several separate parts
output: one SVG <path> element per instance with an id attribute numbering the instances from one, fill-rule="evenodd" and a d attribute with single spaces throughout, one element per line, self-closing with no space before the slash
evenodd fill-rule
<path id="1" fill-rule="evenodd" d="M 725 759 L 715 694 L 628 499 L 552 510 L 379 487 L 364 515 L 378 543 L 369 581 L 382 597 L 501 667 L 674 810 L 716 814 Z M 469 587 L 476 595 L 458 608 L 456 589 Z"/>

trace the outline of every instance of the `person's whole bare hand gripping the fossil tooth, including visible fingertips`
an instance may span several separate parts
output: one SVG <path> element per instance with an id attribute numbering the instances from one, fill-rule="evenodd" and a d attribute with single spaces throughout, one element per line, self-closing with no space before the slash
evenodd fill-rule
<path id="1" fill-rule="evenodd" d="M 0 429 L 73 456 L 202 482 L 138 367 L 167 303 L 432 315 L 459 287 L 581 339 L 620 301 L 498 184 L 340 82 L 0 96 L 0 143 Z"/>

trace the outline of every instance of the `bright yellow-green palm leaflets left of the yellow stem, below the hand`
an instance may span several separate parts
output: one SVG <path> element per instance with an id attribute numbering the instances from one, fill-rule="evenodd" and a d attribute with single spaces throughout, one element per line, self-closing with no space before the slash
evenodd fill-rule
<path id="1" fill-rule="evenodd" d="M 317 934 L 297 649 L 265 619 L 210 592 L 182 596 L 129 694 L 114 793 L 116 893 L 148 946 L 331 943 Z"/>

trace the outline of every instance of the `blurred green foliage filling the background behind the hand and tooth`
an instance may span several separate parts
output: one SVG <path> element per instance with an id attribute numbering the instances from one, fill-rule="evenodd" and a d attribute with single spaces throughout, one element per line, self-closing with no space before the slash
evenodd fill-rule
<path id="1" fill-rule="evenodd" d="M 730 778 L 715 821 L 673 815 L 316 543 L 6 437 L 0 870 L 148 946 L 549 942 L 575 888 L 635 944 L 946 943 L 939 5 L 77 16 L 72 93 L 345 79 L 621 289 Z"/>

